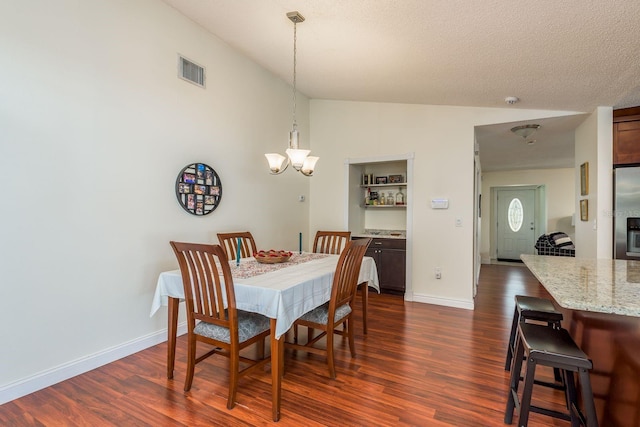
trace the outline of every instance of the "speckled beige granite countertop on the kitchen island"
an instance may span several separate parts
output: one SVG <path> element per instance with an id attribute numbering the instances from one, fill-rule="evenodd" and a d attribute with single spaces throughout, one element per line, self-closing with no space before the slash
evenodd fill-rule
<path id="1" fill-rule="evenodd" d="M 640 317 L 640 261 L 520 258 L 563 308 Z"/>

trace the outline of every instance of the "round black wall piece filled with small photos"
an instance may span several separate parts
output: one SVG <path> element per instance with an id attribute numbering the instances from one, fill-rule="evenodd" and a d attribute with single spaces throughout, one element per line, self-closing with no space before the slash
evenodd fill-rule
<path id="1" fill-rule="evenodd" d="M 176 179 L 176 197 L 180 206 L 192 215 L 207 215 L 222 199 L 222 182 L 211 166 L 192 163 Z"/>

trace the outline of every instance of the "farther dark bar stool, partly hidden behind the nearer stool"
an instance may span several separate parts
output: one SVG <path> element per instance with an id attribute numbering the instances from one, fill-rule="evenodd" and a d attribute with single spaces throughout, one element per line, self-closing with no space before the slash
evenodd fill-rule
<path id="1" fill-rule="evenodd" d="M 553 303 L 545 298 L 529 297 L 524 295 L 516 295 L 516 308 L 513 312 L 513 322 L 511 324 L 511 333 L 509 335 L 509 348 L 507 348 L 507 360 L 504 364 L 504 370 L 511 370 L 513 354 L 516 350 L 516 334 L 518 333 L 518 324 L 527 320 L 535 320 L 547 322 L 547 325 L 560 329 L 562 321 L 562 313 L 556 310 Z M 559 380 L 556 374 L 556 380 Z"/>

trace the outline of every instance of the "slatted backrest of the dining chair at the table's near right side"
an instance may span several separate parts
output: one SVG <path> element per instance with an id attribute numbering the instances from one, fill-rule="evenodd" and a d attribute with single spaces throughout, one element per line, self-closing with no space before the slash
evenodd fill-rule
<path id="1" fill-rule="evenodd" d="M 331 300 L 329 302 L 329 319 L 333 319 L 336 308 L 346 303 L 353 303 L 358 286 L 360 266 L 369 244 L 370 238 L 357 239 L 347 242 L 338 259 L 336 272 L 333 276 Z"/>

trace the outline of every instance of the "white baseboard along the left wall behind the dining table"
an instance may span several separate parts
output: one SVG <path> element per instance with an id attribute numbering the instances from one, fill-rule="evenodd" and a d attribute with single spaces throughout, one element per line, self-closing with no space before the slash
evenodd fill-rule
<path id="1" fill-rule="evenodd" d="M 178 325 L 178 336 L 187 333 L 187 322 Z M 0 386 L 0 405 L 84 374 L 167 340 L 167 330 L 136 338 L 95 354 L 73 360 L 46 371 Z"/>

